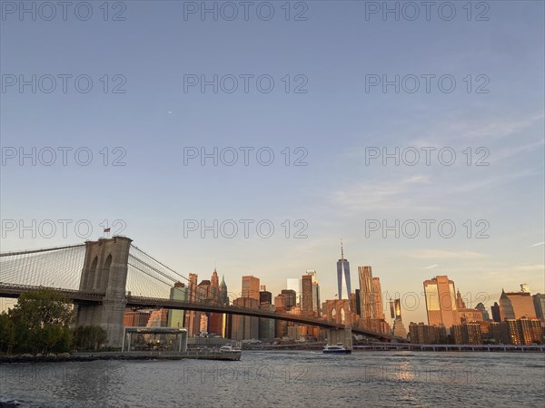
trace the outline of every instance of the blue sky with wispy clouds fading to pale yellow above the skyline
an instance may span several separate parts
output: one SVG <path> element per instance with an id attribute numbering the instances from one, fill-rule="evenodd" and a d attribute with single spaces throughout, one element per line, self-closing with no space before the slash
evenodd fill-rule
<path id="1" fill-rule="evenodd" d="M 81 3 L 1 4 L 2 252 L 111 227 L 325 300 L 342 239 L 407 324 L 437 275 L 545 291 L 542 2 Z"/>

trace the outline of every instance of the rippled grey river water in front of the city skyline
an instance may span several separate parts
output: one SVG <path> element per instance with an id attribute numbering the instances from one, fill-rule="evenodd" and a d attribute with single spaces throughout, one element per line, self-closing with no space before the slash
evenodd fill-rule
<path id="1" fill-rule="evenodd" d="M 2 364 L 0 401 L 9 400 L 32 407 L 542 406 L 545 354 L 247 351 L 240 362 Z"/>

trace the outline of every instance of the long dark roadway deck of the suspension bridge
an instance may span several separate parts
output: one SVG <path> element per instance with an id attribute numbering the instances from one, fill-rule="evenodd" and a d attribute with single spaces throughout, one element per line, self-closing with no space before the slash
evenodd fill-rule
<path id="1" fill-rule="evenodd" d="M 3 282 L 0 282 L 0 297 L 19 297 L 23 292 L 45 288 L 54 289 L 54 291 L 62 293 L 66 298 L 72 300 L 74 303 L 101 303 L 104 297 L 104 293 L 81 292 L 79 290 L 64 289 L 59 287 L 30 287 L 24 285 L 5 284 Z M 214 304 L 212 301 L 190 302 L 157 297 L 126 296 L 126 302 L 127 307 L 163 307 L 165 309 L 193 310 L 196 312 L 226 313 L 230 315 L 272 318 L 275 320 L 284 320 L 302 325 L 315 325 L 323 328 L 344 329 L 344 325 L 331 323 L 327 320 L 290 315 L 286 313 L 277 313 L 261 309 L 250 309 L 241 306 L 223 306 Z M 351 328 L 352 333 L 358 335 L 366 335 L 388 342 L 392 340 L 391 335 L 372 332 L 355 325 Z"/>

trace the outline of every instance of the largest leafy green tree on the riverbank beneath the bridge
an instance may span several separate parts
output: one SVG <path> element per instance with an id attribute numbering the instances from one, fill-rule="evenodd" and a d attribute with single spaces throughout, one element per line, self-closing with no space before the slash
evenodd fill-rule
<path id="1" fill-rule="evenodd" d="M 72 305 L 51 289 L 25 292 L 9 311 L 15 326 L 15 351 L 64 352 L 70 349 Z"/>

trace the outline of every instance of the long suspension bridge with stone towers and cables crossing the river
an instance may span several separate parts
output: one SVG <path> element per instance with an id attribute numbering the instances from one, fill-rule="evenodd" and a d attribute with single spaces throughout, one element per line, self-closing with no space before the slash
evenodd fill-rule
<path id="1" fill-rule="evenodd" d="M 220 304 L 199 296 L 191 300 L 170 298 L 174 284 L 184 281 L 188 278 L 134 246 L 132 239 L 120 236 L 0 254 L 0 297 L 18 297 L 45 287 L 60 292 L 74 303 L 74 325 L 102 326 L 109 346 L 122 344 L 127 307 L 161 307 L 313 325 L 325 330 L 330 343 L 343 343 L 347 337 L 352 343 L 352 333 L 382 342 L 394 339 L 343 322 L 342 311 L 329 318 L 317 318 L 234 306 L 232 302 Z"/>

